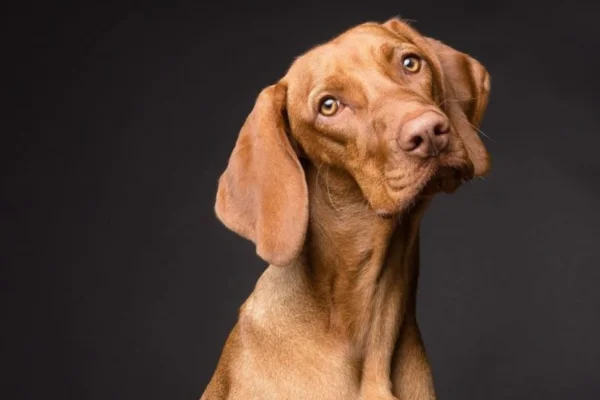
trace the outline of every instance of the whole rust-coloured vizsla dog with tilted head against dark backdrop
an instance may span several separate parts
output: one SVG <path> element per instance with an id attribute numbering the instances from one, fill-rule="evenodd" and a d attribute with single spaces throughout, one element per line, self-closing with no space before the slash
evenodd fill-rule
<path id="1" fill-rule="evenodd" d="M 432 196 L 481 176 L 490 79 L 399 19 L 313 48 L 258 96 L 216 214 L 270 266 L 201 400 L 434 399 L 415 316 Z"/>

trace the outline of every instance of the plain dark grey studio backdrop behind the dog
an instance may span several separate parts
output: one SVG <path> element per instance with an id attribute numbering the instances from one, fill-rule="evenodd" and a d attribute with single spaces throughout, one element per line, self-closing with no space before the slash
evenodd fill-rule
<path id="1" fill-rule="evenodd" d="M 213 214 L 241 124 L 295 56 L 394 15 L 492 76 L 492 172 L 423 223 L 418 312 L 439 398 L 600 398 L 597 10 L 362 3 L 4 14 L 11 398 L 198 398 L 265 266 Z"/>

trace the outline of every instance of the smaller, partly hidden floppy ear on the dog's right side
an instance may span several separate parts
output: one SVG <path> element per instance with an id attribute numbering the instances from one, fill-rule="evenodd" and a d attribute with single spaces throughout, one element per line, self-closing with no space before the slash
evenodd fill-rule
<path id="1" fill-rule="evenodd" d="M 490 75 L 469 55 L 435 39 L 426 41 L 442 68 L 442 107 L 465 145 L 475 176 L 483 176 L 490 169 L 490 158 L 479 137 L 479 126 L 488 104 Z"/>

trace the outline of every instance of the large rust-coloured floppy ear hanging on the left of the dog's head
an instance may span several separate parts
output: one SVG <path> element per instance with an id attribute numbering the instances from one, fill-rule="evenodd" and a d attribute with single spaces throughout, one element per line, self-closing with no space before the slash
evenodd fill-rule
<path id="1" fill-rule="evenodd" d="M 225 226 L 256 244 L 270 264 L 286 265 L 304 244 L 308 190 L 286 134 L 286 88 L 265 88 L 219 178 L 215 211 Z"/>

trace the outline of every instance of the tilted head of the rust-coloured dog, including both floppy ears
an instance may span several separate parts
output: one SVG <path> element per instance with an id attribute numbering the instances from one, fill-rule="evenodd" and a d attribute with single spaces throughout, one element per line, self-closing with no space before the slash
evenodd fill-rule
<path id="1" fill-rule="evenodd" d="M 489 90 L 479 62 L 398 19 L 350 29 L 259 95 L 219 181 L 217 215 L 282 265 L 308 221 L 299 156 L 346 171 L 374 213 L 451 192 L 489 169 L 478 136 Z"/>

